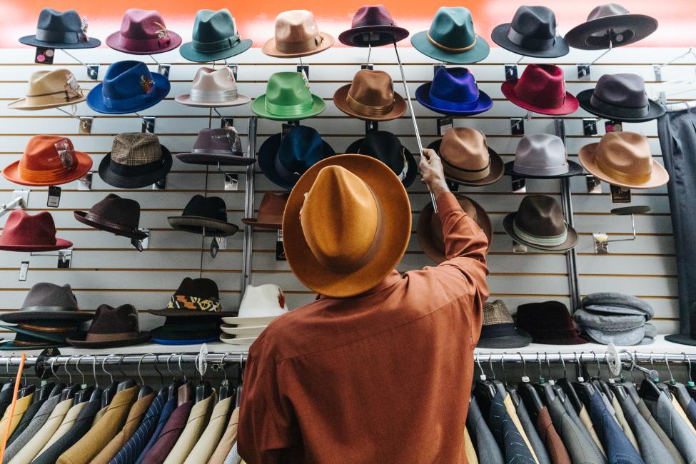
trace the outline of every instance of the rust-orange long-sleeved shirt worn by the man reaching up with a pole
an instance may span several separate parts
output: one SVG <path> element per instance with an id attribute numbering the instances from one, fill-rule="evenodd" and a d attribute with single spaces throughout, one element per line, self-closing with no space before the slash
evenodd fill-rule
<path id="1" fill-rule="evenodd" d="M 448 261 L 319 297 L 250 349 L 238 448 L 247 463 L 466 463 L 487 239 L 438 196 Z"/>

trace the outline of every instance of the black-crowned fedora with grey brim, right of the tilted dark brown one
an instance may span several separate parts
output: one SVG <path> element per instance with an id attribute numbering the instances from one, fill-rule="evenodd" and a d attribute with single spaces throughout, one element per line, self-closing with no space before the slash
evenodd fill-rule
<path id="1" fill-rule="evenodd" d="M 169 216 L 167 220 L 179 231 L 205 233 L 206 237 L 233 236 L 239 230 L 227 222 L 227 206 L 219 196 L 194 195 L 181 216 Z"/>

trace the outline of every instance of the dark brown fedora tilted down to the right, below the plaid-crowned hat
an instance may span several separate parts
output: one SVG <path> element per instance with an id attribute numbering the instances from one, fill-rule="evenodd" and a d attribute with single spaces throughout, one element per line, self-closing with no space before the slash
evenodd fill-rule
<path id="1" fill-rule="evenodd" d="M 75 211 L 75 218 L 87 226 L 136 240 L 143 240 L 147 233 L 138 229 L 140 203 L 109 193 L 89 211 Z"/>

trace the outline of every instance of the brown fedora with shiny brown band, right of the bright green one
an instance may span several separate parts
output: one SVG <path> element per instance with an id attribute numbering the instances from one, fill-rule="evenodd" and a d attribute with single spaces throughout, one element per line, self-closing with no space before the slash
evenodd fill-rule
<path id="1" fill-rule="evenodd" d="M 406 101 L 394 91 L 391 76 L 371 69 L 355 73 L 351 84 L 333 94 L 333 103 L 348 116 L 368 121 L 390 121 L 406 112 Z"/>

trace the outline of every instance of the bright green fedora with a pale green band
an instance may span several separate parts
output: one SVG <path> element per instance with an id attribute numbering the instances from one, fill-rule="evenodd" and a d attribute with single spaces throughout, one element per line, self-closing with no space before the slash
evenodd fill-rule
<path id="1" fill-rule="evenodd" d="M 309 91 L 302 73 L 283 72 L 271 75 L 266 94 L 251 103 L 257 116 L 276 121 L 296 121 L 321 114 L 326 109 L 323 99 Z"/>

